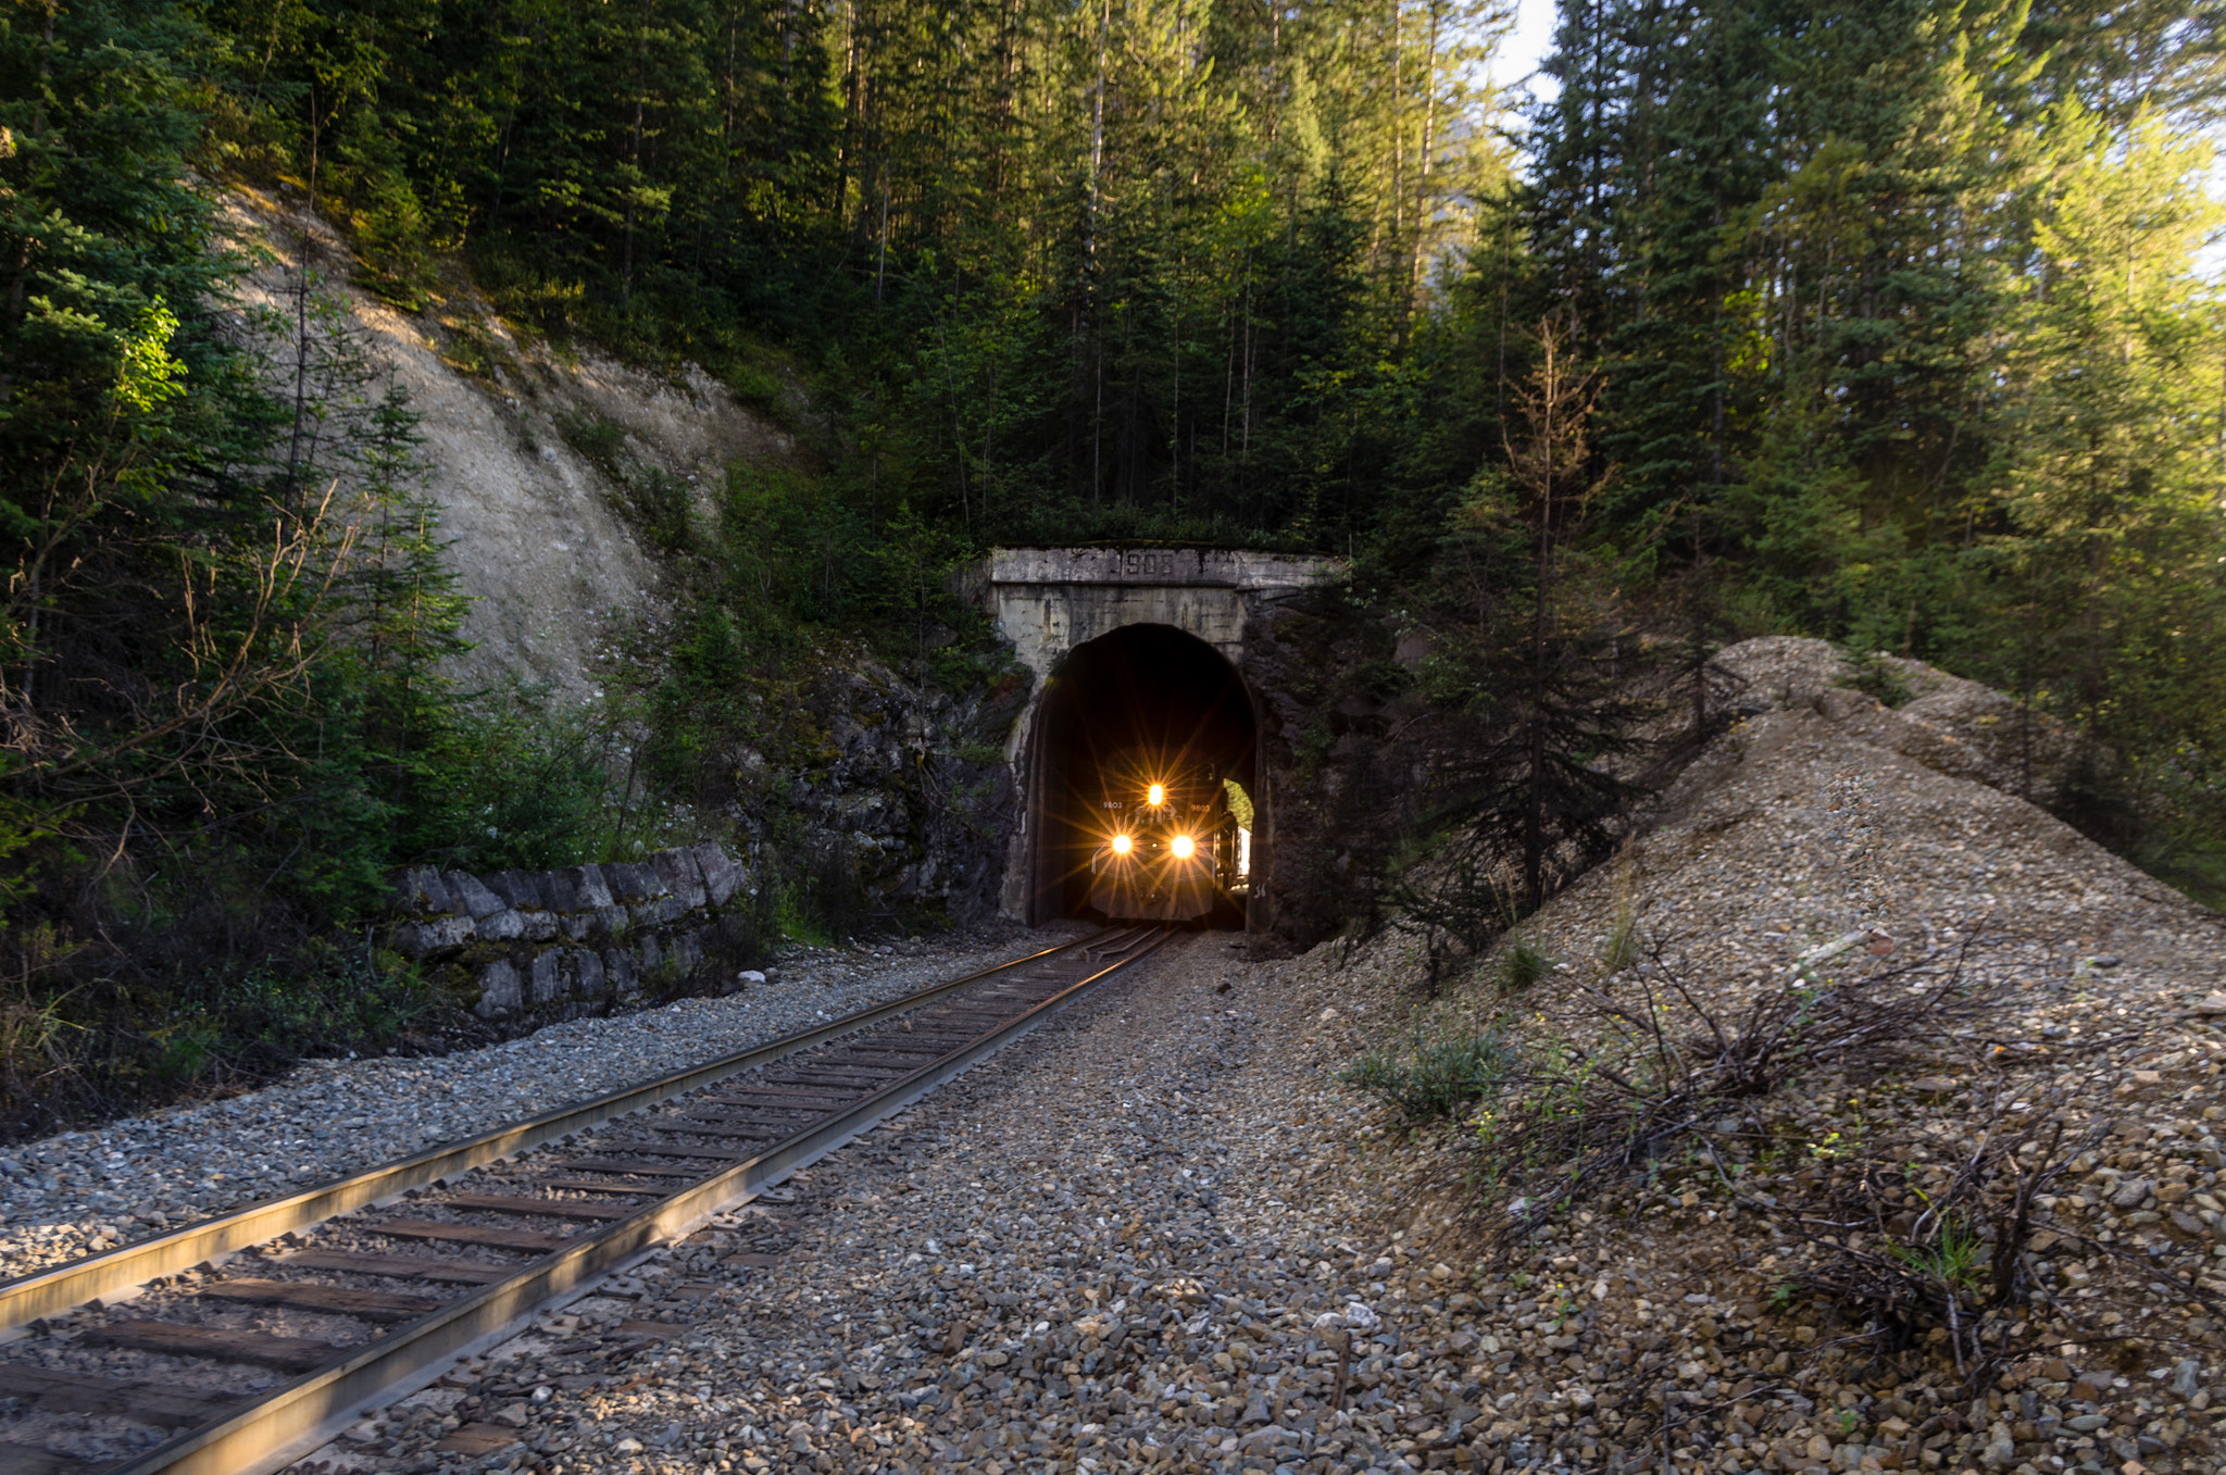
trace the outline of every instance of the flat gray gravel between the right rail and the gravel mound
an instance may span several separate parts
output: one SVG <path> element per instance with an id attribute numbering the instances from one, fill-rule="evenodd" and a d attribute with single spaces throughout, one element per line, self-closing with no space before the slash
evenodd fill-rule
<path id="1" fill-rule="evenodd" d="M 1171 952 L 312 1466 L 1427 1464 L 1489 1368 L 1451 1270 L 1347 1233 L 1365 1108 L 1262 1052 L 1311 1050 L 1322 994 L 1218 934 Z M 1356 1304 L 1382 1326 L 1340 1413 L 1320 1319 Z M 490 1426 L 521 1442 L 454 1448 Z"/>

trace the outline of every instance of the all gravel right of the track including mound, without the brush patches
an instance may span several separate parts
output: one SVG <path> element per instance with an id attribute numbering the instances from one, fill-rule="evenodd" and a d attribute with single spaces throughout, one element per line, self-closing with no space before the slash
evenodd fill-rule
<path id="1" fill-rule="evenodd" d="M 1202 934 L 821 1161 L 790 1201 L 730 1215 L 316 1464 L 2217 1468 L 2219 1326 L 2195 1295 L 2226 1290 L 2217 919 L 1914 761 L 1877 703 L 1819 707 L 1799 681 L 1814 652 L 1774 654 L 1794 670 L 1772 710 L 1687 774 L 1623 865 L 1525 928 L 1565 966 L 1509 1003 L 1487 957 L 1429 1008 L 1531 1046 L 1572 1032 L 1625 914 L 1725 1010 L 1856 928 L 1894 948 L 1870 939 L 1843 968 L 1983 946 L 2012 990 L 1999 1028 L 1912 1039 L 1899 1075 L 1821 1070 L 1770 1103 L 1812 1146 L 1861 1121 L 1950 1159 L 1986 1103 L 2104 1128 L 2041 1212 L 2112 1253 L 2039 1250 L 2055 1301 L 1983 1386 L 1923 1346 L 1881 1357 L 1787 1293 L 1814 1246 L 1747 1206 L 1772 1188 L 1794 1204 L 1832 1148 L 1756 1161 L 1736 1190 L 1672 1164 L 1489 1239 L 1503 1192 L 1474 1135 L 1409 1135 L 1338 1079 L 1425 1008 L 1418 941 L 1253 961 Z"/>

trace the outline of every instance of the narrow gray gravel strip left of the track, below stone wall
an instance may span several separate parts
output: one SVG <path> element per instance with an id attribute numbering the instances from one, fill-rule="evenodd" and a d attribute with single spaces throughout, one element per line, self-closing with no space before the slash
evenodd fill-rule
<path id="1" fill-rule="evenodd" d="M 804 950 L 775 983 L 723 999 L 574 1019 L 459 1055 L 307 1061 L 265 1090 L 20 1144 L 0 1150 L 0 1277 L 748 1050 L 1062 939 L 999 930 Z"/>

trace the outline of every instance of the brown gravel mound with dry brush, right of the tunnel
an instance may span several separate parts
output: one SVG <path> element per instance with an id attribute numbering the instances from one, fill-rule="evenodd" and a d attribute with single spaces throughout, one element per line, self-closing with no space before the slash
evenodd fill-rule
<path id="1" fill-rule="evenodd" d="M 1483 1041 L 1480 1108 L 1313 1170 L 1378 1179 L 1360 1257 L 1474 1364 L 1476 1468 L 2217 1468 L 2226 921 L 2006 792 L 1999 696 L 1723 665 L 1752 716 L 1462 990 L 1396 932 L 1298 968 L 1313 1070 L 1385 1010 Z"/>

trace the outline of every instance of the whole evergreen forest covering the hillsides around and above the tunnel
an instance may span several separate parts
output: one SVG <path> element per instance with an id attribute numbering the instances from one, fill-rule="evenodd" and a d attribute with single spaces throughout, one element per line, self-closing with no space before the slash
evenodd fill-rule
<path id="1" fill-rule="evenodd" d="M 1349 558 L 1449 732 L 1563 754 L 1552 803 L 1491 743 L 1449 779 L 1531 903 L 1540 828 L 1629 796 L 1600 652 L 1752 634 L 2008 692 L 2077 739 L 2066 819 L 2226 894 L 2217 7 L 1563 0 L 1540 105 L 1487 80 L 1509 24 L 7 0 L 0 1095 L 410 1039 L 427 986 L 361 925 L 394 865 L 614 854 L 817 634 L 933 616 L 933 679 L 986 681 L 939 576 L 997 543 Z M 450 674 L 418 412 L 307 283 L 238 305 L 234 189 L 398 311 L 795 429 L 801 469 L 666 529 L 683 632 L 632 705 Z"/>

